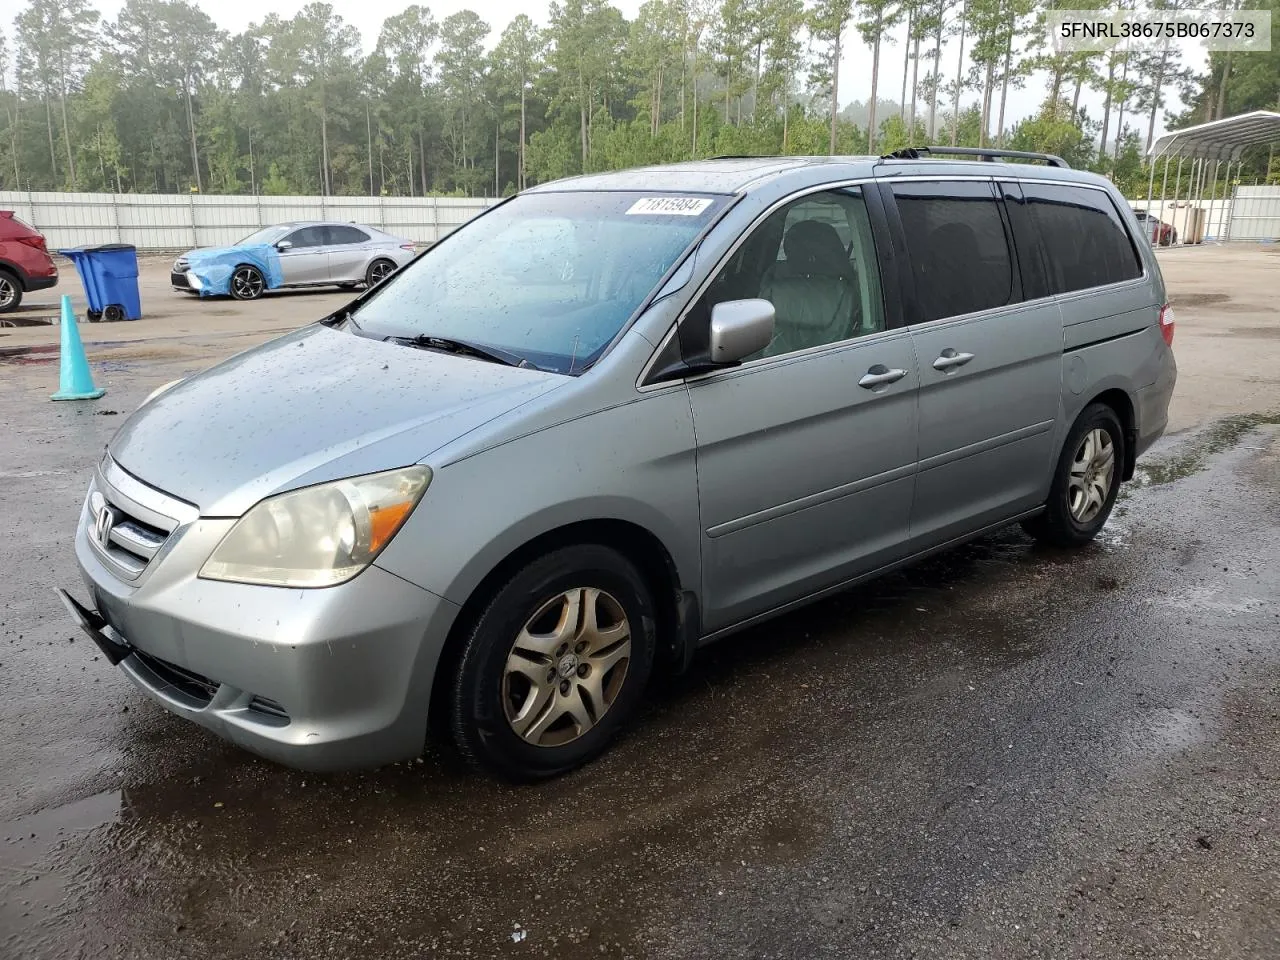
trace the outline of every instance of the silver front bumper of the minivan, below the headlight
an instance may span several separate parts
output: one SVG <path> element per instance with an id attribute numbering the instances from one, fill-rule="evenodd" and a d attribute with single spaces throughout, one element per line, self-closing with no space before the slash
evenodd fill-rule
<path id="1" fill-rule="evenodd" d="M 95 489 L 113 502 L 101 471 Z M 76 532 L 88 590 L 77 618 L 156 703 L 302 769 L 421 753 L 453 604 L 378 567 L 320 590 L 198 579 L 233 520 L 179 525 L 125 581 L 90 541 L 91 498 Z"/>

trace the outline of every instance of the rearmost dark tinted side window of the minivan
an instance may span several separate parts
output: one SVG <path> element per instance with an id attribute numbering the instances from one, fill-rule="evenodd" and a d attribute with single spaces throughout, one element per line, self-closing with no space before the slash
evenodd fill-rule
<path id="1" fill-rule="evenodd" d="M 1100 189 L 1023 183 L 1032 223 L 1041 236 L 1051 293 L 1071 293 L 1142 276 L 1111 198 Z"/>

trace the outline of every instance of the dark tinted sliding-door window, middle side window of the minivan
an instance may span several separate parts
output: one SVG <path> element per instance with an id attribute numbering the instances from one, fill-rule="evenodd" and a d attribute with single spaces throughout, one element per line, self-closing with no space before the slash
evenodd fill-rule
<path id="1" fill-rule="evenodd" d="M 1014 301 L 1012 256 L 989 183 L 902 183 L 893 196 L 925 320 Z"/>

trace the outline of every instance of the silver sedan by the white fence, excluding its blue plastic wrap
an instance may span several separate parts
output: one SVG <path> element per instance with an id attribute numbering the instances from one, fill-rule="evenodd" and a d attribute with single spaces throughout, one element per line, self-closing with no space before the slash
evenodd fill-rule
<path id="1" fill-rule="evenodd" d="M 273 246 L 279 253 L 278 287 L 372 287 L 412 260 L 417 244 L 356 223 L 300 220 L 264 227 L 232 247 Z M 188 253 L 174 261 L 169 280 L 174 289 L 197 293 Z M 257 300 L 270 287 L 262 269 L 238 265 L 229 293 L 236 300 Z"/>

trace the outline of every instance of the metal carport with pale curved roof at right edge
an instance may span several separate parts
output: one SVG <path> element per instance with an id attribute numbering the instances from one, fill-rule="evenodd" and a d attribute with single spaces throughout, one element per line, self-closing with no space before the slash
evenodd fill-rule
<path id="1" fill-rule="evenodd" d="M 1236 177 L 1243 166 L 1240 156 L 1248 147 L 1280 143 L 1280 113 L 1253 110 L 1238 116 L 1170 131 L 1158 137 L 1147 151 L 1151 179 L 1147 183 L 1147 210 L 1152 207 L 1156 187 L 1156 164 L 1165 160 L 1164 183 L 1160 191 L 1158 219 L 1165 219 L 1165 196 L 1169 186 L 1169 164 L 1176 157 L 1178 172 L 1174 182 L 1181 182 L 1183 163 L 1190 160 L 1192 172 L 1187 183 L 1187 198 L 1174 197 L 1174 207 L 1199 209 L 1206 188 L 1216 184 L 1222 163 L 1226 164 L 1226 182 L 1231 183 L 1231 164 L 1236 164 Z M 1212 172 L 1210 170 L 1212 161 Z M 1180 191 L 1179 191 L 1180 192 Z M 1210 188 L 1212 197 L 1212 188 Z M 1190 223 L 1190 218 L 1188 218 Z M 1234 187 L 1231 189 L 1230 218 L 1226 205 L 1219 209 L 1217 230 L 1206 218 L 1204 237 L 1217 239 L 1274 239 L 1280 236 L 1280 187 Z M 1184 243 L 1194 242 L 1184 234 Z"/>

